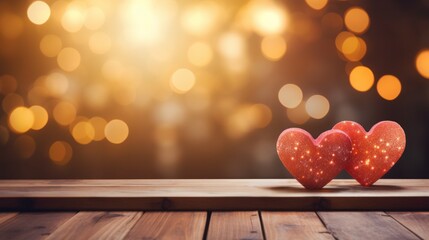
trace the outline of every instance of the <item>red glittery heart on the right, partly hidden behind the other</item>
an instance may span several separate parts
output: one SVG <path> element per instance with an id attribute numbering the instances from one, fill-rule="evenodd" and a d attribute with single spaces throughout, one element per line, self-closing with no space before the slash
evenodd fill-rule
<path id="1" fill-rule="evenodd" d="M 405 133 L 396 122 L 379 122 L 368 133 L 352 121 L 340 122 L 333 129 L 349 135 L 352 153 L 345 169 L 362 186 L 371 186 L 380 179 L 405 149 Z"/>

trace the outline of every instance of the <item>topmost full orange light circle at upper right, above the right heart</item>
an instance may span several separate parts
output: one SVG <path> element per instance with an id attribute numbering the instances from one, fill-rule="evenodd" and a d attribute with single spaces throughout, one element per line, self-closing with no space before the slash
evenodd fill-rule
<path id="1" fill-rule="evenodd" d="M 355 33 L 363 33 L 369 27 L 368 13 L 358 7 L 350 8 L 344 14 L 344 23 L 347 29 Z"/>

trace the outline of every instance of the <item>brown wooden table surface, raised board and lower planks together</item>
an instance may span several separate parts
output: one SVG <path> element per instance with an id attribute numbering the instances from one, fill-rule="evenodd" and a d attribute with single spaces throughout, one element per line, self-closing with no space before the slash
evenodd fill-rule
<path id="1" fill-rule="evenodd" d="M 2 180 L 0 209 L 0 239 L 429 239 L 429 180 Z"/>

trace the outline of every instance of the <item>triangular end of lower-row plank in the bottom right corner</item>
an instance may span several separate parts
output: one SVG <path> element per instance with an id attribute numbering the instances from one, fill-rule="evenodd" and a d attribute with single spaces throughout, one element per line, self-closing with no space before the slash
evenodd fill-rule
<path id="1" fill-rule="evenodd" d="M 429 239 L 429 212 L 388 212 L 396 221 L 423 239 Z"/>

